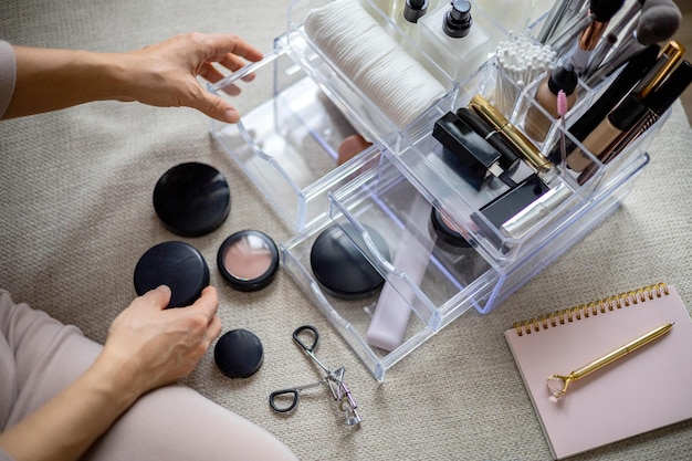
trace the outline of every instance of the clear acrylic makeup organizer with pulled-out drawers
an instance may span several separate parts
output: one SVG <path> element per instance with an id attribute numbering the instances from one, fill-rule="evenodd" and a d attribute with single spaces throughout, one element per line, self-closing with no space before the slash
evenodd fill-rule
<path id="1" fill-rule="evenodd" d="M 374 0 L 357 1 L 439 83 L 439 97 L 419 105 L 409 123 L 395 123 L 387 107 L 355 84 L 349 70 L 315 43 L 306 28 L 312 11 L 333 1 L 294 0 L 287 31 L 275 40 L 273 52 L 211 87 L 232 98 L 242 114 L 237 125 L 212 122 L 212 134 L 294 229 L 280 244 L 283 266 L 373 376 L 384 380 L 391 366 L 445 325 L 470 308 L 489 313 L 610 216 L 648 164 L 646 148 L 665 116 L 611 163 L 585 150 L 593 160 L 586 181 L 560 166 L 538 180 L 530 164 L 521 161 L 505 175 L 508 182 L 490 177 L 479 187 L 432 130 L 442 116 L 469 106 L 478 95 L 495 102 L 502 70 L 494 57 L 454 80 Z M 487 21 L 504 30 L 502 21 Z M 499 33 L 493 46 L 504 39 Z M 254 81 L 245 82 L 251 73 Z M 398 76 L 403 75 L 392 78 Z M 536 106 L 538 84 L 517 85 L 517 101 L 503 112 L 518 129 L 528 108 Z M 580 84 L 567 126 L 605 86 Z M 228 95 L 238 88 L 240 95 Z M 545 142 L 537 144 L 542 150 L 554 146 L 563 132 L 559 121 L 549 122 Z M 355 134 L 371 146 L 340 163 L 339 147 Z M 531 181 L 549 188 L 546 195 L 559 191 L 560 200 L 530 224 L 505 229 L 494 222 L 489 203 L 513 190 L 510 185 Z M 315 241 L 333 227 L 345 234 L 349 254 L 380 280 L 381 291 L 339 292 L 315 273 Z M 343 245 L 339 239 L 337 250 Z M 371 338 L 375 313 L 382 305 L 399 306 L 396 315 L 405 317 L 396 344 L 387 348 Z"/>

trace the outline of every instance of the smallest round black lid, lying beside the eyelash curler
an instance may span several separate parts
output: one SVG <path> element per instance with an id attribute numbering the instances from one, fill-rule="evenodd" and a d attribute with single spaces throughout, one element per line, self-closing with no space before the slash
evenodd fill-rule
<path id="1" fill-rule="evenodd" d="M 262 366 L 264 348 L 254 333 L 242 328 L 232 329 L 217 342 L 213 359 L 229 378 L 248 378 Z"/>

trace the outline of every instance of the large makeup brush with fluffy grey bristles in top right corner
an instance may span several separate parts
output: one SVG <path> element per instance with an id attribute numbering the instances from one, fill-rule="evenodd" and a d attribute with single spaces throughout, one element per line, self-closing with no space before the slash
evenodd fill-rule
<path id="1" fill-rule="evenodd" d="M 628 62 L 647 46 L 669 40 L 678 31 L 682 14 L 671 0 L 647 0 L 639 19 L 625 34 L 626 39 L 587 80 L 596 86 L 606 75 Z"/>

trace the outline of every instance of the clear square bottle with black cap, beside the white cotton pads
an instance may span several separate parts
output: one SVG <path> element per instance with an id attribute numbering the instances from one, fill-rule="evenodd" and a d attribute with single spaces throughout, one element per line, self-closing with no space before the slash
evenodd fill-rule
<path id="1" fill-rule="evenodd" d="M 453 80 L 460 81 L 485 61 L 491 40 L 486 31 L 473 23 L 471 3 L 453 0 L 419 20 L 420 46 Z"/>

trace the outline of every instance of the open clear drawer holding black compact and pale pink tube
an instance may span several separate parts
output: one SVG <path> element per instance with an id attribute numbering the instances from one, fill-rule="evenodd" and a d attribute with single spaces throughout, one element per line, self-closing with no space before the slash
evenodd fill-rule
<path id="1" fill-rule="evenodd" d="M 386 156 L 378 168 L 333 193 L 331 201 L 331 218 L 282 244 L 283 263 L 368 369 L 381 380 L 388 368 L 463 311 L 473 307 L 475 300 L 484 305 L 483 293 L 492 285 L 489 281 L 496 279 L 495 271 L 473 248 L 449 251 L 434 245 L 431 205 Z M 415 216 L 410 216 L 412 208 Z M 373 347 L 366 339 L 384 287 L 369 297 L 348 301 L 321 285 L 313 272 L 313 245 L 334 226 L 350 238 L 386 284 L 394 287 L 389 290 L 389 300 L 402 302 L 411 313 L 402 343 L 392 350 Z M 419 268 L 420 274 L 400 269 L 401 258 L 411 258 L 412 252 L 418 252 L 412 255 L 417 261 L 426 261 Z"/>

